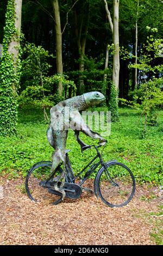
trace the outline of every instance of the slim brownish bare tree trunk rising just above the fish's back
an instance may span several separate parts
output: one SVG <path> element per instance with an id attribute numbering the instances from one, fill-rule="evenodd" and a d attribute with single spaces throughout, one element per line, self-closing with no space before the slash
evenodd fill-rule
<path id="1" fill-rule="evenodd" d="M 58 0 L 52 1 L 54 18 L 55 18 L 55 36 L 56 36 L 56 65 L 57 73 L 61 76 L 63 75 L 63 65 L 62 65 L 62 33 L 60 24 L 60 12 Z M 58 88 L 59 96 L 62 95 L 62 83 L 59 82 Z"/>

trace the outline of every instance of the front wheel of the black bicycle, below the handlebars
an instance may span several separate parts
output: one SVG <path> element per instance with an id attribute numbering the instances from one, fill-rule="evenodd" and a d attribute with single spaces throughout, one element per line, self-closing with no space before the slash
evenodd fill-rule
<path id="1" fill-rule="evenodd" d="M 110 207 L 127 205 L 135 193 L 135 179 L 123 163 L 106 163 L 96 175 L 95 193 Z"/>

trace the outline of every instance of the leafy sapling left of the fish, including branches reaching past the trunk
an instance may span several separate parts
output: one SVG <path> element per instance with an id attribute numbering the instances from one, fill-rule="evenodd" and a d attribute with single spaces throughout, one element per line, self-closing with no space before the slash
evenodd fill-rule
<path id="1" fill-rule="evenodd" d="M 54 58 L 42 46 L 26 43 L 23 50 L 21 93 L 18 102 L 21 106 L 33 105 L 43 109 L 56 105 L 64 100 L 64 95 L 59 97 L 59 81 L 65 88 L 70 86 L 75 90 L 73 81 L 68 80 L 67 76 L 53 75 L 48 76 L 51 65 L 49 62 Z"/>

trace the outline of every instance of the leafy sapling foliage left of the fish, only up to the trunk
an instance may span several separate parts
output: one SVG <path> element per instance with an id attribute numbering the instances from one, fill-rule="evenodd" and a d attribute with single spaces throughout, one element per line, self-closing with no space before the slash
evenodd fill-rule
<path id="1" fill-rule="evenodd" d="M 42 46 L 26 43 L 23 48 L 20 105 L 32 104 L 42 108 L 52 106 L 47 92 L 50 88 L 45 84 L 47 73 L 51 68 L 49 58 L 53 58 Z"/>

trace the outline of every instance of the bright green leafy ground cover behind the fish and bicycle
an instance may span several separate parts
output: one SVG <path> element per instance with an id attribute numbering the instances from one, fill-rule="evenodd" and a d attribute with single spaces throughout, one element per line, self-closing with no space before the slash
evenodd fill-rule
<path id="1" fill-rule="evenodd" d="M 106 108 L 98 107 L 96 110 L 104 111 Z M 160 125 L 148 126 L 147 137 L 143 139 L 144 118 L 140 112 L 121 108 L 120 121 L 111 123 L 111 135 L 106 136 L 108 144 L 104 148 L 103 159 L 116 159 L 126 164 L 137 182 L 162 184 L 163 111 L 158 112 L 158 119 Z M 20 109 L 17 136 L 0 137 L 0 172 L 5 170 L 10 178 L 25 176 L 34 163 L 51 160 L 53 149 L 46 138 L 47 127 L 41 109 Z M 87 144 L 97 143 L 83 134 L 80 137 Z M 71 149 L 69 156 L 74 173 L 96 154 L 93 149 L 82 154 L 73 131 L 68 132 L 67 149 Z"/>

